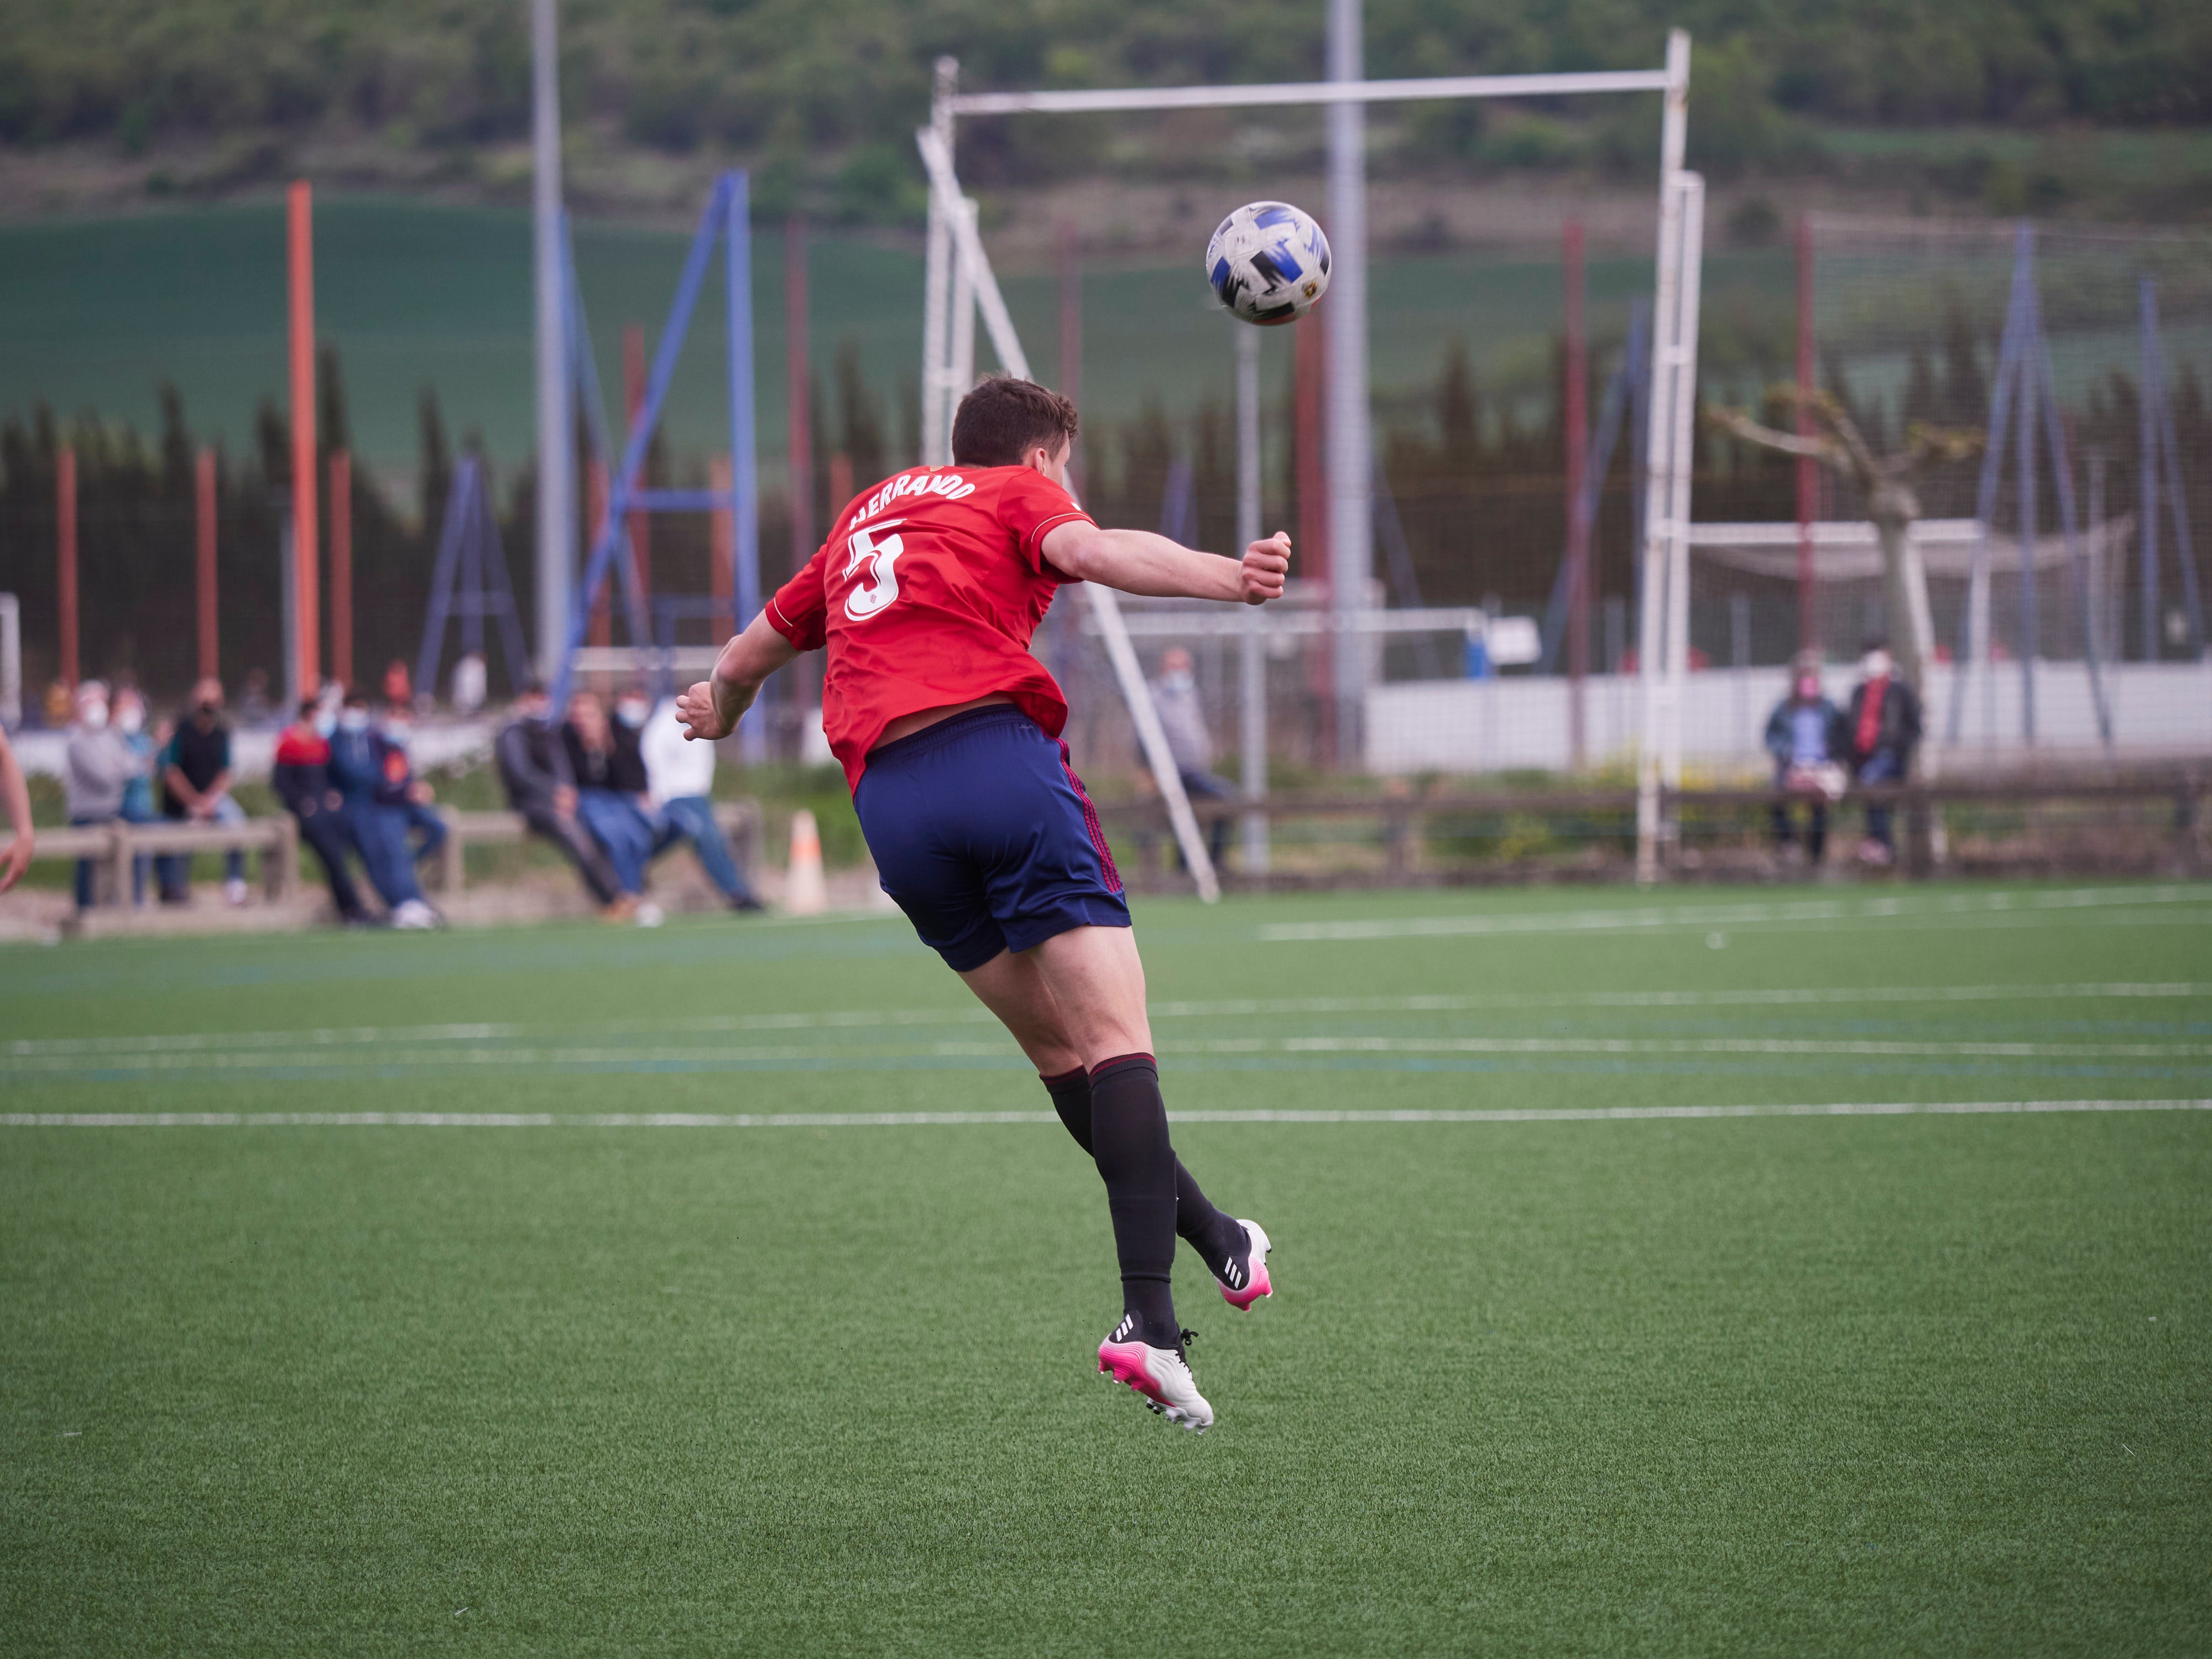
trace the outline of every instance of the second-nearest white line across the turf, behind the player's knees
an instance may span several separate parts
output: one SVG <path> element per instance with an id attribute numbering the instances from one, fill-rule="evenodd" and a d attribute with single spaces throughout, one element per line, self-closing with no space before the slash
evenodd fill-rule
<path id="1" fill-rule="evenodd" d="M 1947 1037 L 1201 1037 L 1170 1051 L 1186 1055 L 1829 1055 L 1918 1060 L 2212 1060 L 2208 1042 L 1989 1042 Z M 1018 1062 L 1011 1040 L 933 1042 L 907 1048 L 387 1048 L 334 1055 L 327 1048 L 257 1048 L 181 1055 L 33 1055 L 0 1062 L 0 1079 L 113 1077 L 265 1071 L 482 1071 L 520 1066 L 807 1066 L 885 1068 L 942 1060 Z"/>

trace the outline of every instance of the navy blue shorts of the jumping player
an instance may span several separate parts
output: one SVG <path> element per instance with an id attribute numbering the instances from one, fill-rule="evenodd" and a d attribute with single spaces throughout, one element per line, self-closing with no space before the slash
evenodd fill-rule
<path id="1" fill-rule="evenodd" d="M 956 973 L 1071 927 L 1128 927 L 1068 748 L 1018 708 L 953 714 L 867 757 L 852 792 L 876 872 Z"/>

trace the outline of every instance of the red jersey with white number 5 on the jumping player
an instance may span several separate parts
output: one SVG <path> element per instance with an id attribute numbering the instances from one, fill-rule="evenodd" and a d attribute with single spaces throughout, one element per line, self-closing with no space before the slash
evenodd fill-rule
<path id="1" fill-rule="evenodd" d="M 845 783 L 891 721 L 993 692 L 1060 737 L 1068 699 L 1029 641 L 1071 580 L 1044 562 L 1044 535 L 1071 520 L 1093 522 L 1029 467 L 911 467 L 845 509 L 768 602 L 799 650 L 830 648 L 823 730 Z"/>

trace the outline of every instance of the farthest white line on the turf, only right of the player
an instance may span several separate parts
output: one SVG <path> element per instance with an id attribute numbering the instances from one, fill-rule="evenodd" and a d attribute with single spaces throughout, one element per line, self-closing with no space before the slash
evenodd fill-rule
<path id="1" fill-rule="evenodd" d="M 1376 938 L 1464 938 L 1491 933 L 1617 933 L 1663 927 L 1754 927 L 1763 922 L 1955 922 L 1960 918 L 1982 916 L 2042 918 L 2112 905 L 2212 905 L 2212 887 L 2066 887 L 2059 891 L 2033 894 L 1951 894 L 1947 898 L 1805 898 L 1750 905 L 1522 911 L 1509 916 L 1385 916 L 1345 922 L 1270 922 L 1254 929 L 1254 938 L 1270 945 L 1285 945 Z"/>

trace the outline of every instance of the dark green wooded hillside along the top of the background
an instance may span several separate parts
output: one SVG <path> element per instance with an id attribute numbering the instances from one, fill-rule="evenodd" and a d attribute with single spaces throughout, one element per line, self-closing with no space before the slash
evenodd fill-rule
<path id="1" fill-rule="evenodd" d="M 969 86 L 1298 80 L 1321 71 L 1323 13 L 1321 0 L 568 0 L 564 113 L 580 177 L 608 199 L 653 177 L 655 157 L 710 155 L 759 168 L 765 215 L 889 221 L 916 204 L 909 135 L 938 53 L 960 58 Z M 2212 124 L 2199 0 L 1369 0 L 1365 15 L 1374 75 L 1641 66 L 1686 27 L 1692 161 L 1714 175 L 1834 173 L 2046 206 L 2084 181 L 2011 139 Z M 1652 113 L 1632 104 L 1376 111 L 1374 155 L 1385 168 L 1641 168 Z M 520 4 L 0 0 L 0 146 L 31 177 L 42 150 L 75 146 L 157 195 L 228 195 L 321 159 L 356 184 L 515 197 L 526 124 Z M 1279 150 L 1318 144 L 1305 115 L 1241 126 Z M 1863 142 L 1887 128 L 1973 135 L 1927 161 L 1916 142 L 1900 166 Z M 987 188 L 1228 177 L 1250 159 L 1192 122 L 982 131 L 967 166 Z M 2093 192 L 2128 190 L 2137 215 L 2201 206 L 2203 168 L 2188 159 L 2177 150 L 2132 184 L 2135 161 L 2115 159 Z M 20 206 L 42 199 L 15 184 Z"/>

